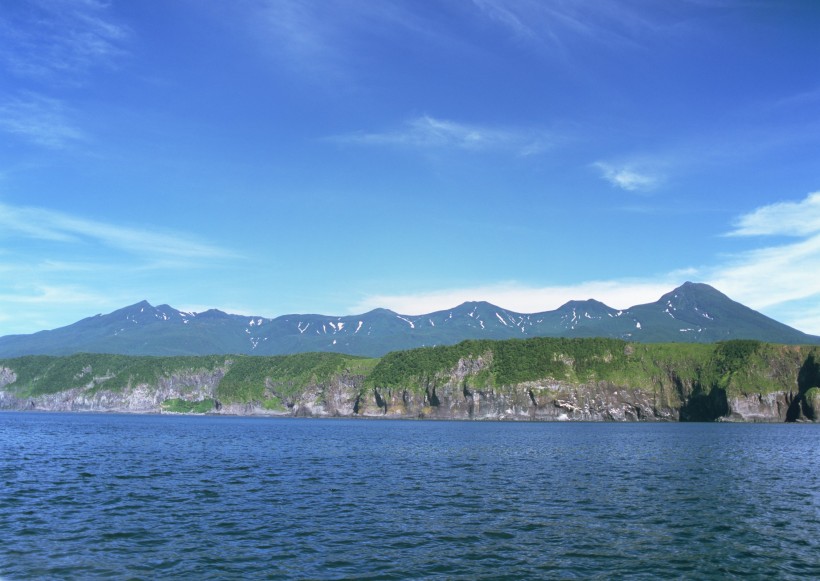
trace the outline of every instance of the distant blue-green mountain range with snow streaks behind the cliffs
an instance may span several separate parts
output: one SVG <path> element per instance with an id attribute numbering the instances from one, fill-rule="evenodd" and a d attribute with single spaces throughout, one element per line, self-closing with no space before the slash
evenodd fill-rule
<path id="1" fill-rule="evenodd" d="M 0 337 L 0 357 L 79 352 L 284 355 L 309 351 L 381 357 L 390 351 L 466 339 L 527 337 L 610 337 L 646 343 L 757 339 L 820 344 L 820 337 L 766 317 L 709 285 L 687 282 L 654 303 L 624 310 L 589 299 L 532 314 L 487 302 L 466 302 L 425 315 L 375 309 L 341 317 L 294 314 L 270 319 L 216 309 L 192 313 L 142 301 L 58 329 Z"/>

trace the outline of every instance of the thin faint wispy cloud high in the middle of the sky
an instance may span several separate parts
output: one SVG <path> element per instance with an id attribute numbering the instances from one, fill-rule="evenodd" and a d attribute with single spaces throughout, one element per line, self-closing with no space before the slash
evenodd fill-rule
<path id="1" fill-rule="evenodd" d="M 329 138 L 355 145 L 392 145 L 417 149 L 508 151 L 517 155 L 541 153 L 551 146 L 546 132 L 459 123 L 423 115 L 392 131 L 349 133 Z"/>

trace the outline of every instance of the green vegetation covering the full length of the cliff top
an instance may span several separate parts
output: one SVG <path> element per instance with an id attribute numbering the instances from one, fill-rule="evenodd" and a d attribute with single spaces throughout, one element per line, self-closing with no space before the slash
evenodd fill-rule
<path id="1" fill-rule="evenodd" d="M 124 356 L 77 354 L 0 360 L 20 397 L 73 388 L 119 391 L 164 379 L 210 374 L 222 402 L 258 402 L 279 408 L 308 388 L 355 379 L 360 389 L 423 392 L 460 373 L 465 387 L 497 389 L 523 382 L 609 382 L 645 390 L 723 396 L 795 390 L 797 375 L 820 348 L 734 340 L 715 344 L 647 344 L 617 339 L 533 338 L 476 340 L 366 359 L 333 353 L 279 356 Z M 459 364 L 462 370 L 459 371 Z M 177 404 L 173 404 L 177 405 Z"/>

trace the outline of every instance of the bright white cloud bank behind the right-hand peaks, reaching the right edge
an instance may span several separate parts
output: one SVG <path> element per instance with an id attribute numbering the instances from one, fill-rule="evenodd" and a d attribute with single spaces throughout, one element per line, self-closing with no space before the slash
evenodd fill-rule
<path id="1" fill-rule="evenodd" d="M 367 296 L 351 312 L 387 307 L 404 314 L 487 300 L 523 313 L 552 310 L 572 299 L 595 298 L 615 308 L 653 302 L 685 280 L 706 282 L 729 297 L 801 331 L 820 335 L 820 193 L 763 206 L 740 216 L 732 236 L 790 234 L 789 244 L 716 255 L 703 266 L 642 279 L 533 286 L 516 282 L 418 294 Z"/>

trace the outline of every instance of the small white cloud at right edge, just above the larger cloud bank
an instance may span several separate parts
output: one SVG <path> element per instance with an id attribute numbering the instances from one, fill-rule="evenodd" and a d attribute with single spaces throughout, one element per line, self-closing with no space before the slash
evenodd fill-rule
<path id="1" fill-rule="evenodd" d="M 808 236 L 820 232 L 820 192 L 800 202 L 779 202 L 740 216 L 729 236 Z"/>

